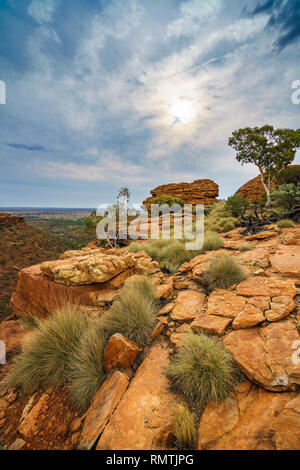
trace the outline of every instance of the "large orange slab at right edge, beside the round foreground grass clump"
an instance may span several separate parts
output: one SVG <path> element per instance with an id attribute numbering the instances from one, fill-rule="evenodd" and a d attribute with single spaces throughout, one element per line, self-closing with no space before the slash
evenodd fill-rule
<path id="1" fill-rule="evenodd" d="M 271 391 L 294 390 L 300 384 L 300 365 L 293 361 L 294 345 L 300 340 L 291 320 L 266 328 L 237 330 L 224 338 L 224 346 L 244 374 Z"/>

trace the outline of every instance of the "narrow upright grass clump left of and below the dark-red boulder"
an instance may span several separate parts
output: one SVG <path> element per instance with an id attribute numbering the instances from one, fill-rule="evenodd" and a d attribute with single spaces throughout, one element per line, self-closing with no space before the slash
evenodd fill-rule
<path id="1" fill-rule="evenodd" d="M 85 410 L 104 379 L 103 330 L 97 325 L 86 329 L 69 360 L 70 396 L 79 410 Z"/>

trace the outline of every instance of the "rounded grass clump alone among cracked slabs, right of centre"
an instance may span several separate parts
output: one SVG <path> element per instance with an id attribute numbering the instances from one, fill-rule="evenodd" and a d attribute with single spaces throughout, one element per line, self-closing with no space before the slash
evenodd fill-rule
<path id="1" fill-rule="evenodd" d="M 209 290 L 227 289 L 246 279 L 246 273 L 239 262 L 230 255 L 216 256 L 204 272 L 204 281 Z"/>

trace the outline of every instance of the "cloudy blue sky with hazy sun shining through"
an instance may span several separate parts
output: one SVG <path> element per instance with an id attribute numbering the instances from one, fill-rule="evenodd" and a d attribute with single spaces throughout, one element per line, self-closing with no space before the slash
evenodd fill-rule
<path id="1" fill-rule="evenodd" d="M 1 0 L 0 207 L 234 194 L 232 131 L 300 127 L 299 43 L 300 0 Z"/>

